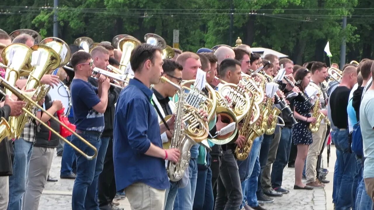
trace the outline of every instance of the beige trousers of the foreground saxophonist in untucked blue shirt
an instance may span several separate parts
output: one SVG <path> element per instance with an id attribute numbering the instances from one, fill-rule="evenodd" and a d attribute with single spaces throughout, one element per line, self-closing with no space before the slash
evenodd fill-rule
<path id="1" fill-rule="evenodd" d="M 165 202 L 165 189 L 153 188 L 144 183 L 134 183 L 125 188 L 131 210 L 162 210 Z"/>

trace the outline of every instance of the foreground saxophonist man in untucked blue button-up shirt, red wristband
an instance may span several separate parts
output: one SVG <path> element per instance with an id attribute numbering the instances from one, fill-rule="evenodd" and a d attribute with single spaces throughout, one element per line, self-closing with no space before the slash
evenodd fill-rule
<path id="1" fill-rule="evenodd" d="M 165 189 L 169 187 L 165 160 L 177 162 L 178 149 L 162 149 L 157 113 L 150 102 L 151 84 L 160 82 L 162 50 L 141 44 L 132 50 L 130 64 L 134 79 L 117 100 L 113 130 L 113 161 L 117 190 L 125 189 L 131 209 L 164 207 Z M 74 107 L 75 108 L 75 107 Z M 168 121 L 173 129 L 175 117 Z"/>

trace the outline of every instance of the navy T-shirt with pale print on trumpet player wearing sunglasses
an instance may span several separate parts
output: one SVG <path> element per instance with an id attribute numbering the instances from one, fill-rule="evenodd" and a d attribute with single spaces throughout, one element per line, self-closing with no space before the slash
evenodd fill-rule
<path id="1" fill-rule="evenodd" d="M 70 91 L 76 129 L 102 132 L 104 130 L 104 114 L 92 108 L 100 102 L 97 88 L 86 81 L 74 79 L 71 82 Z"/>

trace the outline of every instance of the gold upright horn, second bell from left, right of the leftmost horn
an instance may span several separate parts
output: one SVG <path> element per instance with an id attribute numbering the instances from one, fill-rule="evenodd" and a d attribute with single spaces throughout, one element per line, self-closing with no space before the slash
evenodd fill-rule
<path id="1" fill-rule="evenodd" d="M 55 70 L 61 63 L 60 56 L 52 48 L 44 44 L 36 44 L 31 47 L 34 51 L 31 56 L 31 65 L 33 70 L 30 72 L 25 90 L 36 89 L 36 91 L 27 94 L 33 94 L 36 96 L 36 101 L 42 99 L 42 95 L 45 94 L 42 90 L 42 84 L 40 80 L 43 75 Z M 44 96 L 43 96 L 44 97 Z M 33 104 L 27 102 L 25 108 L 32 110 Z M 18 139 L 21 135 L 25 124 L 28 122 L 28 116 L 26 113 L 22 113 L 18 117 L 9 117 L 9 124 L 12 128 L 12 134 L 15 139 Z"/>

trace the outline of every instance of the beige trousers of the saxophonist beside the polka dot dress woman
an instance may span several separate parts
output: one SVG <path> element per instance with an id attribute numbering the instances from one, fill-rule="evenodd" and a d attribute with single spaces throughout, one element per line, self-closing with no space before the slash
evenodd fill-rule
<path id="1" fill-rule="evenodd" d="M 312 133 L 313 143 L 309 146 L 308 155 L 306 157 L 306 183 L 314 182 L 317 179 L 317 160 L 318 155 L 321 153 L 322 146 L 324 145 L 324 138 L 327 132 L 325 123 L 321 123 L 316 133 Z"/>

